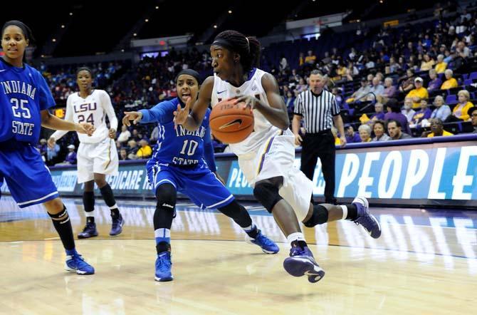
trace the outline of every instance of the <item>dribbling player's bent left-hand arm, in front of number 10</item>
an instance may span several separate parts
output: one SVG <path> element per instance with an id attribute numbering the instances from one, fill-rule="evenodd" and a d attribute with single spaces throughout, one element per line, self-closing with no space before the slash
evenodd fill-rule
<path id="1" fill-rule="evenodd" d="M 214 89 L 214 77 L 209 76 L 202 83 L 199 98 L 192 105 L 193 100 L 188 100 L 186 106 L 181 108 L 177 105 L 177 110 L 174 111 L 175 125 L 183 125 L 189 131 L 194 131 L 199 128 L 204 120 L 204 115 L 211 102 L 212 90 Z M 192 109 L 192 111 L 191 111 Z"/>

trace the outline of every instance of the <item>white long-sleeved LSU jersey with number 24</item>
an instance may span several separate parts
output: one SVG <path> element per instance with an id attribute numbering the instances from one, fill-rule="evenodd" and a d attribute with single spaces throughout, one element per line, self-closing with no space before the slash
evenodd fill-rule
<path id="1" fill-rule="evenodd" d="M 108 125 L 106 115 L 110 120 L 111 128 L 117 130 L 117 118 L 112 108 L 111 98 L 106 91 L 94 90 L 86 98 L 80 97 L 80 93 L 73 93 L 66 100 L 65 120 L 75 123 L 90 123 L 95 125 L 95 132 L 90 137 L 78 133 L 81 143 L 100 143 L 108 138 Z M 58 130 L 53 135 L 56 140 L 63 137 L 68 131 Z"/>

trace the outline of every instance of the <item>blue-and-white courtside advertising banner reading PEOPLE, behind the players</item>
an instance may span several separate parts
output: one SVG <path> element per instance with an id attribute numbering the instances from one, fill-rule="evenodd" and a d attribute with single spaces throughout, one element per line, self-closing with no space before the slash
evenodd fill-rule
<path id="1" fill-rule="evenodd" d="M 352 147 L 337 150 L 336 197 L 362 195 L 374 202 L 401 205 L 477 206 L 476 141 Z M 234 156 L 219 155 L 216 164 L 234 195 L 253 200 L 253 190 Z M 300 167 L 300 153 L 295 165 Z M 83 195 L 74 167 L 53 168 L 51 175 L 61 195 Z M 117 196 L 154 197 L 145 161 L 120 164 L 119 175 L 107 176 L 107 180 Z M 314 195 L 323 195 L 325 181 L 319 160 L 313 185 Z M 1 191 L 8 193 L 8 187 L 3 185 Z"/>

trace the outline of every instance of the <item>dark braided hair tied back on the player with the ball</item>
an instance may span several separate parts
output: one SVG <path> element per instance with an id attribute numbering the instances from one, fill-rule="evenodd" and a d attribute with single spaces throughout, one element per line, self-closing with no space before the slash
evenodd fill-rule
<path id="1" fill-rule="evenodd" d="M 243 71 L 251 71 L 260 66 L 261 45 L 256 37 L 247 37 L 238 31 L 223 31 L 216 36 L 212 45 L 239 53 Z"/>

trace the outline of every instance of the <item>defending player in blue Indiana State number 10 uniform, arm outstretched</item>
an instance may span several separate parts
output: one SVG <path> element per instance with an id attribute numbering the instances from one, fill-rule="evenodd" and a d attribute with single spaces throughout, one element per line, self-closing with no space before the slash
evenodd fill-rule
<path id="1" fill-rule="evenodd" d="M 239 205 L 214 174 L 214 148 L 211 144 L 209 113 L 194 132 L 182 125 L 174 128 L 174 110 L 196 99 L 199 91 L 199 73 L 191 69 L 177 76 L 177 98 L 161 102 L 150 110 L 125 112 L 122 123 L 158 123 L 159 140 L 152 158 L 147 162 L 147 176 L 157 198 L 154 212 L 156 238 L 155 279 L 171 281 L 170 229 L 175 216 L 177 192 L 187 195 L 199 207 L 217 209 L 231 217 L 246 232 L 246 240 L 261 247 L 266 254 L 276 254 L 278 246 L 262 234 L 252 222 L 246 209 Z"/>

